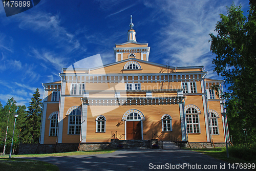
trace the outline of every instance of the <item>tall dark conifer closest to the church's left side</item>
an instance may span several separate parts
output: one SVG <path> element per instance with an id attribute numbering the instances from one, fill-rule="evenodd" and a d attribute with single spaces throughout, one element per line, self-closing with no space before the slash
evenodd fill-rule
<path id="1" fill-rule="evenodd" d="M 42 100 L 39 98 L 39 89 L 33 94 L 30 106 L 25 116 L 25 124 L 21 128 L 22 143 L 38 143 L 40 136 Z"/>

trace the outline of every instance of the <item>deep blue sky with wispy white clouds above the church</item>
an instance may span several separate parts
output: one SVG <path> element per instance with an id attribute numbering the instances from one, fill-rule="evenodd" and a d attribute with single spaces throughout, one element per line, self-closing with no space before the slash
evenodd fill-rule
<path id="1" fill-rule="evenodd" d="M 211 61 L 208 34 L 214 32 L 230 0 L 67 1 L 41 0 L 6 17 L 0 5 L 0 101 L 13 97 L 29 105 L 41 83 L 60 80 L 58 73 L 83 58 L 100 54 L 115 62 L 115 44 L 126 42 L 133 15 L 138 42 L 151 47 L 149 61 L 170 66 L 205 66 L 220 79 Z M 249 0 L 234 1 L 246 13 Z"/>

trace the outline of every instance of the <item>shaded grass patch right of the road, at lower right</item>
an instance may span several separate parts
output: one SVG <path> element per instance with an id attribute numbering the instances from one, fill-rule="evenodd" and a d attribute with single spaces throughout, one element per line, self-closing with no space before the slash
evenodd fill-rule
<path id="1" fill-rule="evenodd" d="M 200 152 L 202 154 L 226 161 L 228 163 L 256 164 L 255 154 L 251 153 L 251 151 L 250 152 L 245 151 L 243 148 L 238 149 L 237 147 L 228 147 L 229 158 L 227 158 L 227 155 L 226 155 L 227 154 L 226 148 L 183 148 L 183 149 L 189 149 L 191 151 Z M 238 154 L 240 155 L 240 157 L 238 157 Z M 256 170 L 256 168 L 253 170 Z"/>

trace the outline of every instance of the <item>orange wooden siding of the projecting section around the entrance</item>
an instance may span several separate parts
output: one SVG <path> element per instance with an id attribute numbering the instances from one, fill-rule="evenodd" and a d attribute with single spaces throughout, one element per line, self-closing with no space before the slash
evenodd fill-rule
<path id="1" fill-rule="evenodd" d="M 117 108 L 116 108 L 117 107 Z M 106 110 L 113 109 L 110 112 Z M 128 105 L 128 106 L 88 106 L 87 120 L 87 142 L 109 142 L 111 132 L 117 132 L 119 139 L 125 138 L 125 122 L 122 121 L 123 114 L 130 109 L 141 111 L 145 120 L 143 121 L 143 139 L 151 139 L 152 132 L 158 133 L 160 138 L 167 139 L 167 135 L 173 135 L 181 139 L 181 126 L 179 105 Z M 93 113 L 92 113 L 93 111 Z M 102 114 L 103 113 L 103 114 Z M 172 132 L 162 132 L 161 117 L 169 114 L 172 117 Z M 96 117 L 103 115 L 106 118 L 105 133 L 96 133 Z"/>

